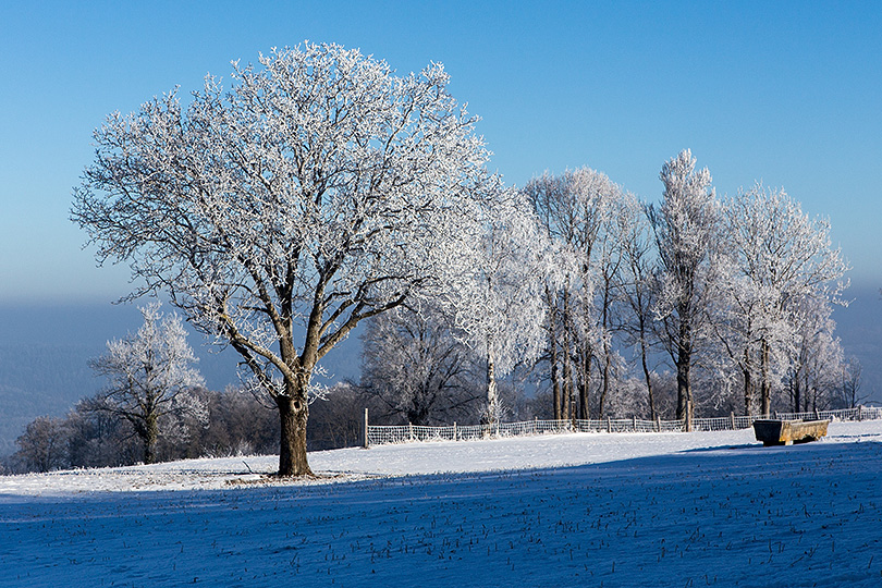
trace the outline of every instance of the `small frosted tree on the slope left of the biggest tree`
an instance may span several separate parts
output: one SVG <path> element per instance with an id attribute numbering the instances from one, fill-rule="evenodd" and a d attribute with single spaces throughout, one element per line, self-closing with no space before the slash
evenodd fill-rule
<path id="1" fill-rule="evenodd" d="M 187 333 L 176 315 L 164 316 L 159 304 L 140 309 L 144 324 L 135 334 L 108 341 L 107 354 L 89 365 L 108 379 L 96 408 L 132 424 L 144 444 L 144 462 L 156 461 L 161 431 L 176 427 L 181 418 L 206 420 L 205 406 L 193 394 L 203 378 L 193 368 L 197 362 L 186 342 Z"/>

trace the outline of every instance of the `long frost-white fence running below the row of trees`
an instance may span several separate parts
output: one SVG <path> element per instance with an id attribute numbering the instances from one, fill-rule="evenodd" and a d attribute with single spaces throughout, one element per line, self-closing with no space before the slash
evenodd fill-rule
<path id="1" fill-rule="evenodd" d="M 747 429 L 761 418 L 785 420 L 877 420 L 882 419 L 882 407 L 858 406 L 842 411 L 816 411 L 813 413 L 774 413 L 773 415 L 751 415 L 694 418 L 691 426 L 686 420 L 644 420 L 633 418 L 574 419 L 574 420 L 525 420 L 523 422 L 499 422 L 495 425 L 466 425 L 455 422 L 444 427 L 417 425 L 368 425 L 365 411 L 364 445 L 383 445 L 409 441 L 465 441 L 488 437 L 515 437 L 522 434 L 548 434 L 567 432 L 672 432 L 672 431 L 722 431 Z"/>

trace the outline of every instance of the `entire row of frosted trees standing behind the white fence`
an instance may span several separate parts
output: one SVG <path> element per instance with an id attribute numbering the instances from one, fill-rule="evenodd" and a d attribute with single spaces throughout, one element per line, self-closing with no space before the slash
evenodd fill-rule
<path id="1" fill-rule="evenodd" d="M 462 421 L 454 408 L 474 399 L 476 364 L 497 418 L 500 366 L 550 390 L 554 418 L 854 405 L 860 366 L 831 319 L 847 265 L 826 221 L 759 184 L 718 198 L 688 150 L 660 177 L 658 205 L 587 168 L 530 181 L 511 200 L 520 209 L 488 223 L 470 290 L 481 304 L 448 298 L 373 319 L 362 387 L 415 424 Z M 673 406 L 659 397 L 666 369 Z"/>

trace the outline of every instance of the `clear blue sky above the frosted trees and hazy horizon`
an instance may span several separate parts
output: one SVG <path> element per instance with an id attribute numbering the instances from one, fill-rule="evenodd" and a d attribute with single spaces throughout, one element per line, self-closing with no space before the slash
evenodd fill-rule
<path id="1" fill-rule="evenodd" d="M 26 2 L 0 5 L 0 303 L 114 299 L 68 220 L 91 131 L 304 39 L 445 64 L 492 167 L 590 166 L 654 201 L 691 148 L 720 194 L 762 180 L 829 217 L 882 285 L 882 2 Z"/>

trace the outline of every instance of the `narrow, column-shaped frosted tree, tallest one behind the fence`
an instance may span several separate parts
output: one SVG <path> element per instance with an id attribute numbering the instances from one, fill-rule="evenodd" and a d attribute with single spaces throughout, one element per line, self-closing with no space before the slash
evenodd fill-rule
<path id="1" fill-rule="evenodd" d="M 664 163 L 660 179 L 662 203 L 647 209 L 659 264 L 656 314 L 676 367 L 676 417 L 684 418 L 691 401 L 690 370 L 707 338 L 707 306 L 719 285 L 720 206 L 710 172 L 696 169 L 688 149 Z"/>

